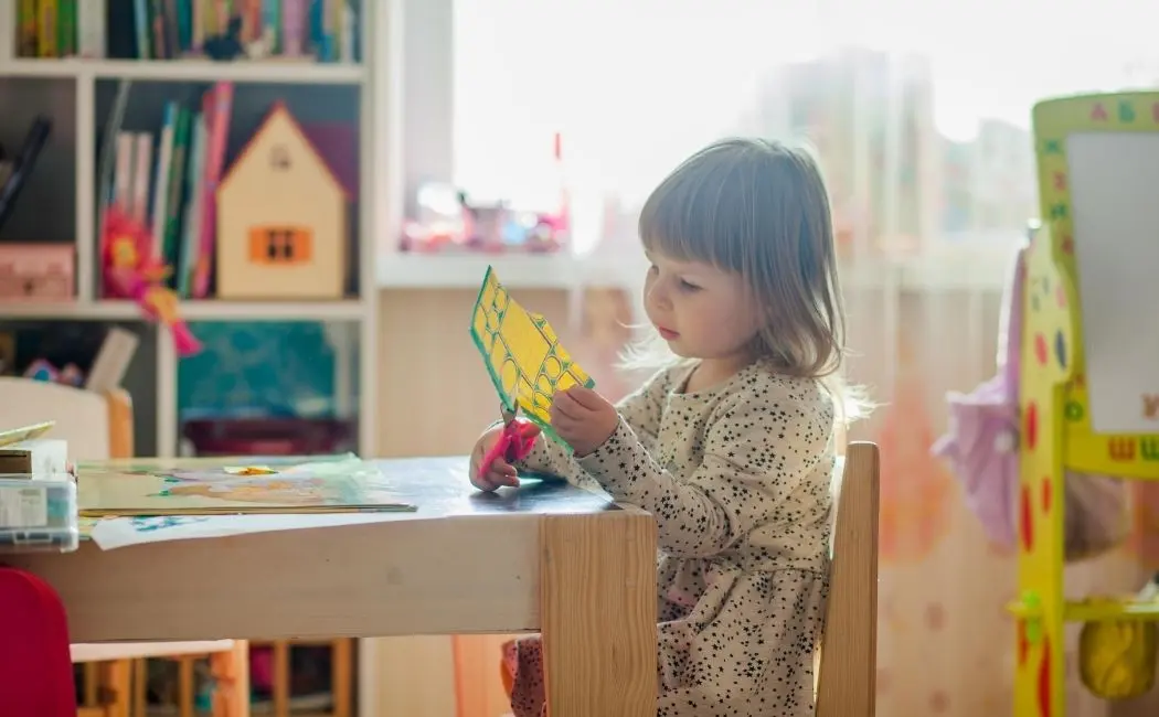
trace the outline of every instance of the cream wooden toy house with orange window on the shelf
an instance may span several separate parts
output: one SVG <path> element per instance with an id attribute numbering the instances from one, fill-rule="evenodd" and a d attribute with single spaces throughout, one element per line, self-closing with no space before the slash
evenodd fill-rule
<path id="1" fill-rule="evenodd" d="M 341 299 L 349 211 L 348 188 L 275 103 L 218 188 L 218 298 Z"/>

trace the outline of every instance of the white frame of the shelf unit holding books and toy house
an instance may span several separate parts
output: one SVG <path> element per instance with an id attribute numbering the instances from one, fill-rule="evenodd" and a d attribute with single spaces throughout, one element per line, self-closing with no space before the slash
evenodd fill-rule
<path id="1" fill-rule="evenodd" d="M 218 63 L 210 60 L 122 60 L 122 59 L 51 59 L 16 58 L 13 52 L 15 36 L 15 3 L 5 3 L 0 10 L 0 97 L 13 82 L 24 86 L 38 80 L 71 86 L 74 117 L 54 117 L 61 125 L 74 129 L 75 170 L 75 276 L 76 297 L 72 302 L 0 303 L 0 321 L 144 321 L 138 308 L 129 301 L 100 299 L 97 276 L 96 225 L 96 161 L 97 130 L 105 118 L 97 115 L 99 85 L 130 80 L 134 90 L 145 83 L 203 83 L 232 81 L 236 85 L 235 109 L 245 103 L 246 86 L 285 87 L 286 92 L 312 87 L 347 87 L 357 93 L 357 123 L 359 161 L 359 196 L 356 207 L 359 227 L 357 242 L 358 295 L 342 301 L 183 301 L 181 312 L 189 321 L 255 322 L 255 321 L 316 321 L 328 325 L 327 336 L 335 345 L 335 363 L 341 365 L 335 376 L 335 390 L 357 396 L 336 396 L 337 404 L 357 405 L 358 448 L 371 455 L 374 452 L 378 423 L 376 420 L 377 376 L 377 276 L 374 273 L 376 242 L 380 235 L 379 222 L 389 221 L 389 214 L 377 205 L 382 195 L 380 174 L 382 163 L 376 161 L 387 154 L 380 145 L 382 136 L 376 123 L 384 122 L 380 93 L 388 87 L 384 78 L 376 81 L 376 66 L 387 61 L 387 50 L 370 42 L 382 32 L 387 3 L 362 0 L 363 16 L 362 61 L 349 64 L 316 64 L 270 59 Z M 51 108 L 44 108 L 52 115 Z M 49 141 L 53 141 L 50 136 Z M 71 192 L 70 192 L 71 193 Z M 352 329 L 352 330 L 351 330 Z M 156 330 L 154 346 L 143 343 L 140 352 L 155 351 L 155 453 L 175 455 L 178 451 L 177 357 L 173 342 L 165 330 Z M 148 334 L 146 334 L 148 336 Z M 357 351 L 357 360 L 344 361 Z M 347 367 L 357 366 L 357 379 Z M 357 388 L 355 388 L 357 387 Z M 357 400 L 364 396 L 364 400 Z M 140 403 L 140 402 L 139 402 Z M 139 414 L 140 415 L 140 414 Z"/>

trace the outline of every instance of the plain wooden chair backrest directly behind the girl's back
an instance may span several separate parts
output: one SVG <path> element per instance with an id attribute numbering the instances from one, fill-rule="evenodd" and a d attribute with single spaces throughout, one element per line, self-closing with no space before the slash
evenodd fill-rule
<path id="1" fill-rule="evenodd" d="M 873 717 L 877 681 L 880 456 L 852 442 L 838 485 L 817 717 Z"/>

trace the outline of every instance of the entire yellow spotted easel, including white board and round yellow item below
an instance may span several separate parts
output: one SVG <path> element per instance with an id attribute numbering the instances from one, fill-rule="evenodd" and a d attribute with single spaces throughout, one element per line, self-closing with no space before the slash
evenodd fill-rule
<path id="1" fill-rule="evenodd" d="M 1057 497 L 1064 469 L 1159 480 L 1159 416 L 1150 410 L 1159 394 L 1159 352 L 1150 371 L 1108 370 L 1114 361 L 1127 365 L 1122 354 L 1154 350 L 1153 323 L 1132 324 L 1113 313 L 1093 319 L 1107 301 L 1125 306 L 1125 291 L 1151 291 L 1138 277 L 1142 269 L 1154 270 L 1152 249 L 1139 243 L 1131 254 L 1129 247 L 1144 239 L 1134 227 L 1159 243 L 1159 221 L 1131 214 L 1152 211 L 1144 195 L 1153 195 L 1156 184 L 1145 163 L 1159 164 L 1152 149 L 1159 149 L 1159 93 L 1042 102 L 1034 108 L 1034 134 L 1048 231 L 1032 242 L 1023 297 L 1014 714 L 1065 717 L 1066 622 L 1086 623 L 1079 673 L 1095 694 L 1134 696 L 1154 679 L 1152 621 L 1159 620 L 1159 602 L 1064 599 L 1064 515 Z M 1098 169 L 1089 158 L 1101 162 Z M 1150 203 L 1159 206 L 1159 197 Z M 1132 227 L 1132 220 L 1140 224 Z M 1117 286 L 1109 283 L 1115 277 Z M 1079 287 L 1088 291 L 1085 303 Z M 1116 322 L 1121 325 L 1110 325 Z"/>

